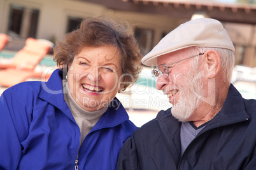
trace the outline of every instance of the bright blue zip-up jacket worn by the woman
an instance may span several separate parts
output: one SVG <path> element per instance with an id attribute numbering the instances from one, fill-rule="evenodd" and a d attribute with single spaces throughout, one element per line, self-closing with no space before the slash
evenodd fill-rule
<path id="1" fill-rule="evenodd" d="M 0 97 L 0 169 L 115 169 L 137 128 L 115 98 L 85 137 L 64 101 L 62 72 L 48 82 L 22 82 Z"/>

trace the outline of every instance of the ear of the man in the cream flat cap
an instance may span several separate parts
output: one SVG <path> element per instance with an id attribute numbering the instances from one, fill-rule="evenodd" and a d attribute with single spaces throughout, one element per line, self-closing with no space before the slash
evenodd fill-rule
<path id="1" fill-rule="evenodd" d="M 210 49 L 204 53 L 204 56 L 206 57 L 207 77 L 209 79 L 216 77 L 218 72 L 220 72 L 220 54 Z"/>

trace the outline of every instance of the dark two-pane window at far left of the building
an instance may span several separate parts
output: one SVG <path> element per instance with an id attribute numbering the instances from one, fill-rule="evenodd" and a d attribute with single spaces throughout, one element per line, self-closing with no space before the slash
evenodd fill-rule
<path id="1" fill-rule="evenodd" d="M 11 5 L 8 34 L 14 37 L 36 37 L 39 10 Z"/>

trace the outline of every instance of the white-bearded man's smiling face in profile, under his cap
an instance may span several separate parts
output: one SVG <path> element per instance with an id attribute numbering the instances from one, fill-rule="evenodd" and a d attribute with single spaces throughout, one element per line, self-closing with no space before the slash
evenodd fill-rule
<path id="1" fill-rule="evenodd" d="M 157 64 L 165 64 L 177 62 L 183 58 L 187 58 L 187 53 L 175 51 L 157 58 Z M 194 59 L 194 58 L 193 58 Z M 191 59 L 184 60 L 169 66 L 169 77 L 164 79 L 159 75 L 156 87 L 164 91 L 169 102 L 173 107 L 171 112 L 179 121 L 188 121 L 188 118 L 199 108 L 202 101 L 200 95 L 203 94 L 203 80 L 195 79 L 198 75 L 198 63 L 194 67 L 190 67 Z"/>

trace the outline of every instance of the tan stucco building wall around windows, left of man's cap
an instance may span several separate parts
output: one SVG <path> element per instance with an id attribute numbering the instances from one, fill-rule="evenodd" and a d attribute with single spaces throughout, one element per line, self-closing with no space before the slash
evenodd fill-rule
<path id="1" fill-rule="evenodd" d="M 43 39 L 59 38 L 66 33 L 68 16 L 86 18 L 87 16 L 110 15 L 128 20 L 134 27 L 153 29 L 153 45 L 159 42 L 163 32 L 169 32 L 181 22 L 174 18 L 115 11 L 99 4 L 73 0 L 0 0 L 0 32 L 6 33 L 10 5 L 16 4 L 25 8 L 39 10 L 38 30 L 36 37 Z"/>

